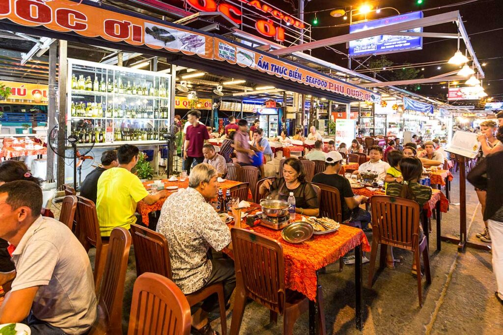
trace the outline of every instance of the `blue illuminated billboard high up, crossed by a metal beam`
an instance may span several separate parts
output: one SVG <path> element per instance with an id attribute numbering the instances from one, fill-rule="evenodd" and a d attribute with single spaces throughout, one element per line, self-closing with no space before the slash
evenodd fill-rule
<path id="1" fill-rule="evenodd" d="M 349 32 L 356 33 L 397 23 L 422 19 L 423 12 L 412 12 L 388 18 L 357 23 L 349 27 Z M 423 28 L 414 28 L 407 31 L 423 32 Z M 402 50 L 420 50 L 423 48 L 423 37 L 421 36 L 397 36 L 397 35 L 378 35 L 349 42 L 349 54 L 351 56 L 360 56 L 368 54 L 384 54 Z"/>

